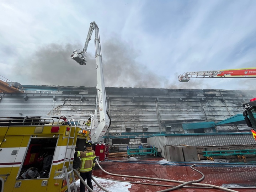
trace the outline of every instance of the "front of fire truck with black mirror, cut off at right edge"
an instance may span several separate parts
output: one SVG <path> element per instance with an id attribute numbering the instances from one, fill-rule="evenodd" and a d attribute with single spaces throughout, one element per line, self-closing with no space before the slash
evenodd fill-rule
<path id="1" fill-rule="evenodd" d="M 252 98 L 250 102 L 244 103 L 243 116 L 248 127 L 251 127 L 252 135 L 256 140 L 256 98 Z"/>

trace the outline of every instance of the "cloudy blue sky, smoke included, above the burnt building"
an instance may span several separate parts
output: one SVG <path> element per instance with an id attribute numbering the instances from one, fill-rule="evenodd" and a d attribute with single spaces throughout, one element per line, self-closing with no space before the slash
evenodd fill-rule
<path id="1" fill-rule="evenodd" d="M 255 0 L 1 0 L 0 10 L 0 79 L 96 86 L 94 33 L 87 64 L 70 58 L 95 21 L 107 87 L 255 89 L 256 79 L 177 78 L 256 67 Z"/>

